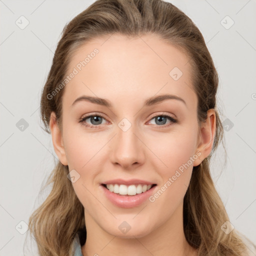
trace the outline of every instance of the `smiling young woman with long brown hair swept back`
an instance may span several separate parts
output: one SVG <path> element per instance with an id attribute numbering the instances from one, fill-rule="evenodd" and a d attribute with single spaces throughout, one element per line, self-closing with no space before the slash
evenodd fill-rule
<path id="1" fill-rule="evenodd" d="M 217 86 L 171 3 L 97 0 L 73 18 L 41 95 L 59 162 L 29 218 L 39 255 L 250 255 L 210 177 Z"/>

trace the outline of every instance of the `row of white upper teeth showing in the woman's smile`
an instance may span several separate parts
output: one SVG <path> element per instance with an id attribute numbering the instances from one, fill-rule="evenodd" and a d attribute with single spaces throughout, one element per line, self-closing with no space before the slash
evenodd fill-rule
<path id="1" fill-rule="evenodd" d="M 114 192 L 116 194 L 122 194 L 122 195 L 135 195 L 135 194 L 140 194 L 148 189 L 151 188 L 152 185 L 146 185 L 146 184 L 138 184 L 136 185 L 118 185 L 118 184 L 106 184 L 107 189 L 110 192 Z"/>

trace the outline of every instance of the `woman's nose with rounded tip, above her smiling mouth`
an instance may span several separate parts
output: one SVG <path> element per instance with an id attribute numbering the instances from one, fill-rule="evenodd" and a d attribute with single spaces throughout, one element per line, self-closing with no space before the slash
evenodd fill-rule
<path id="1" fill-rule="evenodd" d="M 145 146 L 141 142 L 142 137 L 134 130 L 133 125 L 124 131 L 117 127 L 111 147 L 110 160 L 114 165 L 120 165 L 123 169 L 132 169 L 143 164 L 145 160 Z"/>

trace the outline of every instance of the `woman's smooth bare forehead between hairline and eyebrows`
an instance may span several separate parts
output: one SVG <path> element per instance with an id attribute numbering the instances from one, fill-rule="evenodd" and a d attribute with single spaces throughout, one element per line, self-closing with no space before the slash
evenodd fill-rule
<path id="1" fill-rule="evenodd" d="M 72 55 L 67 74 L 74 70 L 76 74 L 65 86 L 68 104 L 81 94 L 108 95 L 110 100 L 117 94 L 133 99 L 157 92 L 194 94 L 188 56 L 155 34 L 93 38 Z M 194 100 L 195 95 L 191 96 Z"/>

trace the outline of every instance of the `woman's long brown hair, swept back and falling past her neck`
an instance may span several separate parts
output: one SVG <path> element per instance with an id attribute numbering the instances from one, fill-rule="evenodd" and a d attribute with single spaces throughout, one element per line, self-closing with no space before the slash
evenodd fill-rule
<path id="1" fill-rule="evenodd" d="M 193 167 L 183 201 L 184 234 L 188 243 L 198 249 L 198 256 L 247 255 L 243 254 L 245 245 L 238 232 L 232 230 L 226 234 L 221 229 L 228 216 L 209 171 L 210 157 L 223 139 L 216 107 L 217 71 L 201 32 L 173 4 L 162 0 L 97 0 L 66 24 L 41 94 L 40 114 L 45 131 L 50 133 L 51 111 L 55 112 L 57 124 L 62 130 L 64 88 L 54 95 L 52 92 L 67 75 L 74 50 L 94 37 L 112 33 L 128 36 L 154 33 L 189 57 L 194 74 L 193 89 L 198 98 L 198 123 L 203 122 L 207 110 L 213 108 L 216 112 L 216 132 L 211 154 Z M 29 231 L 36 240 L 40 256 L 71 255 L 70 246 L 75 234 L 86 230 L 83 205 L 67 178 L 68 173 L 68 166 L 58 161 L 44 186 L 52 185 L 49 195 L 29 218 Z"/>

